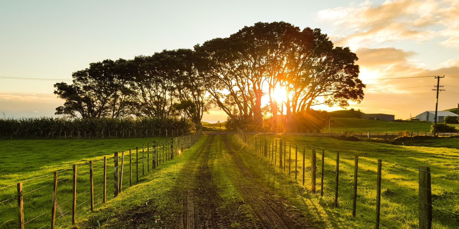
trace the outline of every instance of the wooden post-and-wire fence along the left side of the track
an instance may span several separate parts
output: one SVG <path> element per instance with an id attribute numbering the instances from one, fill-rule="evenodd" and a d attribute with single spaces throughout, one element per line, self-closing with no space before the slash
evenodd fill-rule
<path id="1" fill-rule="evenodd" d="M 5 222 L 0 221 L 0 228 L 6 226 L 7 228 L 20 228 L 23 229 L 24 225 L 26 228 L 45 228 L 50 226 L 51 228 L 62 228 L 65 225 L 72 223 L 75 224 L 75 219 L 80 217 L 82 214 L 88 212 L 89 210 L 93 211 L 94 206 L 98 205 L 100 203 L 105 203 L 106 202 L 106 197 L 108 199 L 113 199 L 113 195 L 105 195 L 106 191 L 116 193 L 118 192 L 118 195 L 121 195 L 121 190 L 129 185 L 132 186 L 132 182 L 128 182 L 129 178 L 132 178 L 132 174 L 138 174 L 139 176 L 145 175 L 145 173 L 149 173 L 149 165 L 150 163 L 153 165 L 151 170 L 156 169 L 158 166 L 158 161 L 161 158 L 157 157 L 158 151 L 162 148 L 163 153 L 163 160 L 170 161 L 174 158 L 174 156 L 179 155 L 181 152 L 184 150 L 192 147 L 198 140 L 199 137 L 201 136 L 202 132 L 197 131 L 188 135 L 183 135 L 183 136 L 178 136 L 178 137 L 171 137 L 170 139 L 166 140 L 158 140 L 158 141 L 153 141 L 151 142 L 152 145 L 150 147 L 150 142 L 147 144 L 147 150 L 142 146 L 143 150 L 137 151 L 136 157 L 140 156 L 140 160 L 137 160 L 137 162 L 134 161 L 136 167 L 139 168 L 141 171 L 136 171 L 134 172 L 133 169 L 129 169 L 129 165 L 133 163 L 133 161 L 128 160 L 126 158 L 123 158 L 123 156 L 126 156 L 126 152 L 129 151 L 123 151 L 123 154 L 118 155 L 118 157 L 122 157 L 121 160 L 119 160 L 119 164 L 111 164 L 107 163 L 106 160 L 110 159 L 113 160 L 116 159 L 116 156 L 110 156 L 110 157 L 104 157 L 101 159 L 97 160 L 91 160 L 88 162 L 80 163 L 80 164 L 74 164 L 73 169 L 62 169 L 54 173 L 54 184 L 51 185 L 49 183 L 49 179 L 47 177 L 50 174 L 42 175 L 39 177 L 35 177 L 32 179 L 24 180 L 19 183 L 7 185 L 5 187 L 0 188 L 0 190 L 4 189 L 6 191 L 5 195 L 2 196 L 8 196 L 10 194 L 7 194 L 9 192 L 8 187 L 12 187 L 13 185 L 18 186 L 17 190 L 17 195 L 14 197 L 8 198 L 6 200 L 1 200 L 0 201 L 0 208 L 3 210 L 2 212 L 4 213 L 9 213 L 11 216 L 14 216 L 12 212 L 18 213 L 18 216 L 16 217 L 17 220 L 14 220 L 14 217 L 11 217 L 11 219 L 6 218 Z M 161 146 L 162 144 L 162 146 Z M 145 155 L 148 154 L 148 155 Z M 152 153 L 152 157 L 150 158 L 150 153 Z M 118 152 L 115 153 L 117 155 Z M 145 161 L 146 160 L 146 161 Z M 145 169 L 145 162 L 147 163 L 147 168 Z M 163 161 L 164 163 L 164 161 Z M 89 166 L 87 165 L 89 164 Z M 99 164 L 99 165 L 97 165 Z M 94 165 L 94 167 L 93 167 Z M 120 175 L 119 177 L 116 176 L 116 171 L 118 169 L 122 172 L 122 174 L 129 173 L 129 176 L 123 176 Z M 107 168 L 108 167 L 108 168 Z M 77 169 L 81 170 L 77 173 Z M 110 170 L 111 172 L 108 172 Z M 145 171 L 146 170 L 146 171 Z M 113 173 L 115 171 L 115 173 Z M 102 176 L 103 172 L 103 176 Z M 139 174 L 140 172 L 140 174 Z M 89 173 L 89 174 L 88 174 Z M 109 174 L 108 177 L 106 177 L 106 174 Z M 113 178 L 113 175 L 110 174 L 115 174 L 115 178 Z M 31 184 L 30 187 L 34 187 L 32 191 L 28 192 L 23 192 L 22 190 L 22 184 L 29 184 L 29 181 L 35 180 L 35 179 L 47 179 L 43 182 L 40 183 L 34 183 Z M 81 180 L 83 179 L 83 180 Z M 107 181 L 112 180 L 115 184 L 117 185 L 117 189 L 114 189 L 114 185 L 106 185 Z M 77 182 L 78 181 L 78 182 Z M 125 182 L 123 182 L 125 181 Z M 136 183 L 140 183 L 141 180 L 137 180 Z M 90 185 L 88 187 L 87 185 Z M 93 185 L 93 184 L 97 185 Z M 37 187 L 37 185 L 40 185 Z M 43 185 L 45 184 L 45 185 Z M 103 186 L 102 186 L 103 185 Z M 19 186 L 21 188 L 19 189 Z M 26 189 L 30 188 L 26 187 Z M 53 190 L 49 190 L 49 188 L 52 187 Z M 88 190 L 89 189 L 89 190 Z M 72 191 L 73 190 L 73 191 Z M 32 193 L 32 194 L 30 194 Z M 94 193 L 96 195 L 94 196 Z M 13 192 L 11 192 L 11 196 Z M 22 201 L 22 196 L 29 194 L 33 195 L 32 197 L 25 198 Z M 47 199 L 50 198 L 50 194 L 52 194 L 53 197 L 53 207 L 51 211 L 39 211 L 40 213 L 35 213 L 31 212 L 30 210 L 27 210 L 30 208 L 31 205 L 36 205 L 38 202 L 41 203 L 46 203 L 48 202 Z M 103 194 L 103 196 L 101 196 Z M 0 197 L 2 197 L 0 196 Z M 12 200 L 16 199 L 17 196 L 17 207 L 14 207 L 12 205 Z M 73 197 L 72 197 L 73 196 Z M 111 196 L 111 197 L 109 197 Z M 51 200 L 51 199 L 49 199 Z M 26 204 L 25 207 L 22 207 L 23 204 Z M 29 206 L 30 205 L 30 206 Z M 48 206 L 48 204 L 42 204 L 45 206 Z M 73 205 L 73 206 L 72 206 Z M 17 208 L 17 211 L 7 211 L 8 208 Z M 28 218 L 25 220 L 24 223 L 24 208 L 26 209 L 25 217 Z M 47 207 L 46 207 L 47 208 Z M 87 209 L 86 209 L 87 208 Z M 70 209 L 70 210 L 69 210 Z M 29 213 L 30 212 L 30 213 Z M 44 217 L 50 218 L 51 220 L 45 220 Z M 37 221 L 40 219 L 39 221 Z M 15 226 L 18 225 L 18 226 Z"/>

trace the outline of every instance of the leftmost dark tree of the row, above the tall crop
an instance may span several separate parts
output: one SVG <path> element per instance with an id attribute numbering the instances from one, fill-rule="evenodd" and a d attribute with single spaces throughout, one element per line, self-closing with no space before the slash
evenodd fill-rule
<path id="1" fill-rule="evenodd" d="M 104 60 L 72 74 L 73 84 L 56 83 L 54 93 L 65 100 L 56 114 L 74 118 L 119 118 L 130 114 L 132 91 L 126 87 L 126 60 Z"/>

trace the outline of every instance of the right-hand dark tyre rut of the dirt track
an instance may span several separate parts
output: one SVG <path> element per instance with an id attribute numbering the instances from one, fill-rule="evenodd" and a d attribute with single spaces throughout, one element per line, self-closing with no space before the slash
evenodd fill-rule
<path id="1" fill-rule="evenodd" d="M 248 205 L 252 207 L 257 215 L 260 225 L 258 228 L 269 228 L 269 229 L 304 229 L 311 228 L 305 224 L 299 214 L 289 213 L 285 209 L 283 202 L 279 198 L 269 196 L 269 188 L 258 184 L 257 178 L 243 163 L 241 156 L 235 153 L 237 150 L 232 143 L 229 142 L 228 136 L 223 136 L 224 148 L 227 148 L 229 154 L 234 159 L 236 167 L 240 170 L 244 176 L 244 180 L 241 180 L 237 185 L 238 191 Z"/>

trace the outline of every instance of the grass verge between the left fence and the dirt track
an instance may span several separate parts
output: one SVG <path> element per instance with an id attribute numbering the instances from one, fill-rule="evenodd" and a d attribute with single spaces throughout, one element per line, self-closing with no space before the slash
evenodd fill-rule
<path id="1" fill-rule="evenodd" d="M 90 229 L 99 225 L 101 229 L 130 228 L 131 220 L 124 219 L 134 213 L 153 215 L 140 219 L 148 221 L 149 228 L 163 228 L 176 221 L 183 212 L 183 205 L 177 199 L 183 198 L 185 190 L 193 185 L 183 181 L 193 179 L 192 171 L 197 169 L 197 164 L 191 162 L 206 139 L 206 136 L 201 137 L 193 147 L 148 174 L 147 182 L 134 185 L 119 198 L 95 209 L 90 218 L 79 220 L 78 228 Z"/>

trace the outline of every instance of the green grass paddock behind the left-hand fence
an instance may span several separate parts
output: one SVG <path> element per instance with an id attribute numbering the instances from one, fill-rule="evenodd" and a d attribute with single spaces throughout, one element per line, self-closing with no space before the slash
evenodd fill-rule
<path id="1" fill-rule="evenodd" d="M 24 217 L 26 228 L 39 228 L 49 224 L 52 200 L 52 180 L 54 171 L 58 172 L 57 220 L 56 225 L 62 225 L 69 220 L 72 203 L 72 165 L 77 166 L 77 211 L 88 210 L 89 202 L 89 160 L 94 160 L 95 203 L 101 203 L 101 182 L 103 177 L 103 157 L 107 156 L 107 199 L 113 196 L 113 153 L 125 151 L 125 168 L 129 167 L 129 148 L 135 163 L 135 147 L 139 146 L 139 176 L 142 177 L 142 155 L 145 155 L 147 170 L 147 143 L 161 138 L 133 139 L 98 139 L 98 140 L 4 140 L 1 141 L 0 153 L 0 228 L 9 228 L 17 224 L 16 185 L 23 182 Z M 142 144 L 145 153 L 142 154 Z M 162 145 L 161 145 L 162 147 Z M 150 159 L 152 158 L 150 154 Z M 121 163 L 121 159 L 120 159 Z M 149 165 L 151 167 L 151 165 Z M 135 169 L 135 168 L 134 168 Z M 128 172 L 128 173 L 127 173 Z M 134 170 L 135 172 L 135 170 Z M 124 184 L 129 185 L 129 171 L 124 170 Z M 127 175 L 126 175 L 127 174 Z M 37 178 L 38 177 L 38 178 Z M 34 180 L 29 180 L 34 179 Z M 111 181 L 110 181 L 111 180 Z M 134 183 L 136 177 L 134 175 Z M 7 186 L 11 185 L 11 186 Z M 98 195 L 99 194 L 99 195 Z M 13 198 L 13 199 L 11 199 Z M 5 200 L 11 199 L 6 202 Z M 97 205 L 96 205 L 97 206 Z M 38 218 L 35 218 L 38 217 Z M 12 220 L 11 220 L 12 219 Z M 11 220 L 11 221 L 9 221 Z M 5 223 L 6 222 L 6 223 Z"/>

